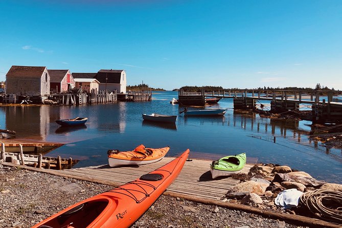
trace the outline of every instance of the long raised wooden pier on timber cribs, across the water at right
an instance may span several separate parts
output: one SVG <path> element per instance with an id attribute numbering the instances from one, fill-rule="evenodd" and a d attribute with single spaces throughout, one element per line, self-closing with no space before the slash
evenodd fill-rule
<path id="1" fill-rule="evenodd" d="M 283 113 L 299 111 L 300 104 L 311 105 L 313 122 L 339 122 L 342 121 L 342 99 L 333 95 L 341 91 L 331 90 L 254 90 L 254 89 L 228 89 L 206 93 L 178 92 L 180 105 L 204 106 L 206 98 L 233 98 L 234 109 L 255 110 L 257 101 L 270 101 L 270 111 Z M 324 96 L 324 99 L 320 99 Z"/>

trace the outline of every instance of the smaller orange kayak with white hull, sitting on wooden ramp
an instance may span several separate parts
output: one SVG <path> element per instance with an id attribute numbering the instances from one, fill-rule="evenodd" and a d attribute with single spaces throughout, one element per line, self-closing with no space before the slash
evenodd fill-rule
<path id="1" fill-rule="evenodd" d="M 163 159 L 169 149 L 169 146 L 152 149 L 139 145 L 132 151 L 108 150 L 108 163 L 110 167 L 139 166 L 154 163 Z"/>

